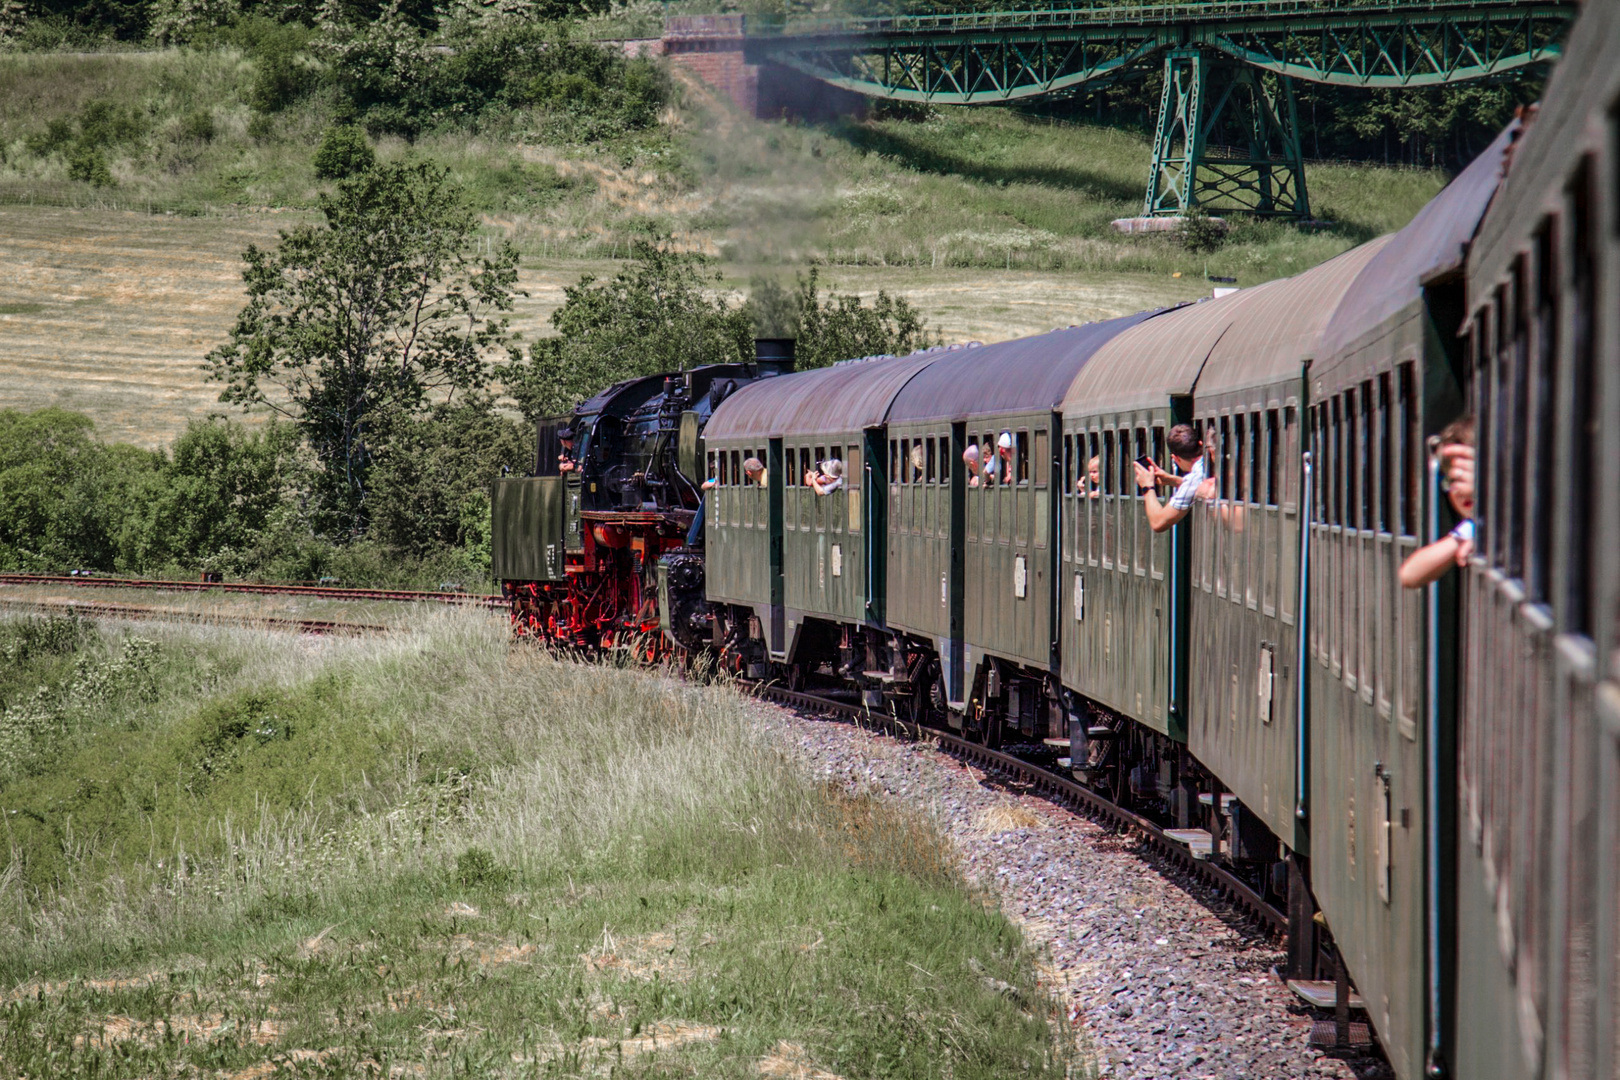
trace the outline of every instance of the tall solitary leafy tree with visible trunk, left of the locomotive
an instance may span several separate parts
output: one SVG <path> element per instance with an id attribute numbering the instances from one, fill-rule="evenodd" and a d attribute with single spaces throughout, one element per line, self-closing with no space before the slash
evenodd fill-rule
<path id="1" fill-rule="evenodd" d="M 343 180 L 321 214 L 243 253 L 248 304 L 207 368 L 222 402 L 298 424 L 319 465 L 319 528 L 358 536 L 374 455 L 433 402 L 486 384 L 517 251 L 476 254 L 476 217 L 426 162 Z"/>

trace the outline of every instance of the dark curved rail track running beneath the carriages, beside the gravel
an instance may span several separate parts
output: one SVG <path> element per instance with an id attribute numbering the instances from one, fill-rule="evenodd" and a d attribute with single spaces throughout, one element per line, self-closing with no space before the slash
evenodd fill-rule
<path id="1" fill-rule="evenodd" d="M 1265 897 L 1249 886 L 1249 882 L 1215 861 L 1196 858 L 1186 844 L 1173 840 L 1163 829 L 1147 818 L 1119 806 L 1089 787 L 1076 784 L 1066 776 L 1059 776 L 1050 769 L 1014 758 L 1013 755 L 1001 753 L 1000 750 L 990 750 L 988 746 L 962 738 L 961 735 L 953 735 L 951 732 L 943 732 L 935 727 L 923 727 L 893 716 L 872 712 L 863 706 L 849 704 L 847 701 L 834 701 L 813 693 L 802 693 L 770 683 L 757 683 L 755 691 L 768 701 L 778 701 L 781 704 L 807 709 L 821 716 L 838 716 L 863 724 L 876 724 L 889 733 L 902 735 L 906 738 L 938 740 L 938 743 L 959 761 L 977 764 L 990 772 L 1016 777 L 1029 784 L 1034 792 L 1043 795 L 1045 798 L 1061 806 L 1068 806 L 1111 831 L 1140 837 L 1157 855 L 1162 855 L 1189 878 L 1194 878 L 1205 887 L 1213 889 L 1236 910 L 1239 910 L 1262 934 L 1278 939 L 1288 931 L 1288 916 L 1268 904 Z"/>

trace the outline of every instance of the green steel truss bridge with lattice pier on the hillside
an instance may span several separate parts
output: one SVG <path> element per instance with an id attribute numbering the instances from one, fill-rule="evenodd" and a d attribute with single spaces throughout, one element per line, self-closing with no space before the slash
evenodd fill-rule
<path id="1" fill-rule="evenodd" d="M 1503 76 L 1555 58 L 1578 10 L 1576 0 L 1192 0 L 750 16 L 745 52 L 870 97 L 953 105 L 1081 94 L 1158 62 L 1144 215 L 1307 219 L 1294 79 L 1418 87 Z"/>

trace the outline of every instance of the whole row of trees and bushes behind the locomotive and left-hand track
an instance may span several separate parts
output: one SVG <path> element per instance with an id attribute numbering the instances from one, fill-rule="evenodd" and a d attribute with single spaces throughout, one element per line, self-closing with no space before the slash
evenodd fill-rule
<path id="1" fill-rule="evenodd" d="M 797 335 L 804 368 L 935 342 L 906 300 L 825 293 L 813 270 L 734 300 L 710 259 L 651 233 L 523 342 L 518 256 L 483 243 L 444 168 L 371 164 L 319 209 L 243 253 L 248 303 L 206 359 L 251 423 L 193 421 L 151 452 L 63 410 L 0 411 L 0 567 L 481 583 L 488 486 L 531 466 L 535 419 L 620 379 L 747 361 L 761 330 Z"/>

